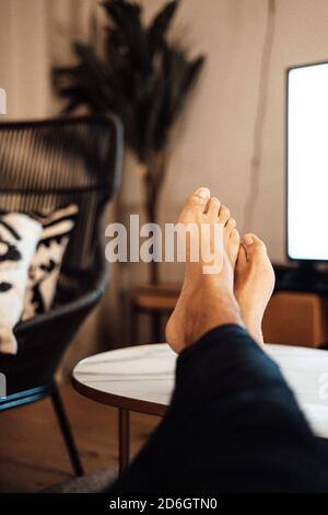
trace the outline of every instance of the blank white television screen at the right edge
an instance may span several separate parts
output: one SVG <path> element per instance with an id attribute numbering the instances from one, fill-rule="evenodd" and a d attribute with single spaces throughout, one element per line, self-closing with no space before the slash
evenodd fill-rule
<path id="1" fill-rule="evenodd" d="M 288 254 L 328 260 L 328 62 L 288 75 Z"/>

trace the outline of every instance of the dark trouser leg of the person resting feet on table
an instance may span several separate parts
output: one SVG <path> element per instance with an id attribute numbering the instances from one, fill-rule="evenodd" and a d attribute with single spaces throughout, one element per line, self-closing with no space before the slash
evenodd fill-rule
<path id="1" fill-rule="evenodd" d="M 110 492 L 324 491 L 325 468 L 279 367 L 223 325 L 178 357 L 165 417 Z"/>

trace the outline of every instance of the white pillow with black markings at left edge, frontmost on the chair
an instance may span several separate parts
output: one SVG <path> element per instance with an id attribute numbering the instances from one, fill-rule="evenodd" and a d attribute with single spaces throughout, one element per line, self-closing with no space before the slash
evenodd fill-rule
<path id="1" fill-rule="evenodd" d="M 15 354 L 13 334 L 20 321 L 33 261 L 43 227 L 21 213 L 0 215 L 0 352 Z"/>

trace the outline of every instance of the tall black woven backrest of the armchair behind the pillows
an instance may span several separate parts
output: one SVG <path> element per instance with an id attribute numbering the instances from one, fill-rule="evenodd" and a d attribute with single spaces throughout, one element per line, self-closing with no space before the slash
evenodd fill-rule
<path id="1" fill-rule="evenodd" d="M 115 117 L 0 124 L 0 210 L 79 206 L 62 264 L 62 291 L 75 289 L 74 275 L 92 274 L 96 266 L 98 225 L 119 184 L 121 158 L 122 129 Z"/>

